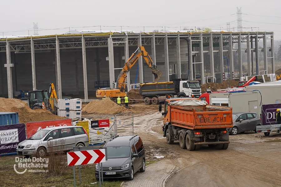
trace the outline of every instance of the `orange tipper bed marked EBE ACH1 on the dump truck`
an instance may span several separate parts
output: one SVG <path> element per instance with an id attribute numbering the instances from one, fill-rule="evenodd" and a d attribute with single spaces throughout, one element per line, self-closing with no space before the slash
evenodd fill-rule
<path id="1" fill-rule="evenodd" d="M 215 105 L 172 106 L 171 124 L 189 129 L 232 128 L 232 108 Z"/>

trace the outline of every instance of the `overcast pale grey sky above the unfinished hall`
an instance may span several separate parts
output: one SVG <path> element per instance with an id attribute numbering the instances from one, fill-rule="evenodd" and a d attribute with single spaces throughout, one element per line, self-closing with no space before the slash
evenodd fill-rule
<path id="1" fill-rule="evenodd" d="M 33 22 L 38 22 L 39 35 L 62 34 L 70 30 L 132 30 L 152 31 L 179 30 L 180 26 L 194 28 L 209 26 L 226 30 L 237 27 L 236 7 L 242 7 L 242 26 L 259 27 L 259 31 L 274 31 L 275 39 L 281 39 L 281 1 L 236 0 L 236 1 L 187 1 L 187 0 L 1 0 L 0 32 L 4 35 L 33 34 Z M 248 15 L 247 15 L 248 14 Z M 259 16 L 254 16 L 259 15 Z M 272 16 L 272 17 L 266 17 Z M 98 26 L 80 28 L 86 26 Z M 133 26 L 133 27 L 126 27 Z M 143 26 L 147 26 L 143 28 Z M 148 27 L 148 26 L 155 26 Z M 157 26 L 157 27 L 156 27 Z M 236 28 L 234 28 L 236 31 Z M 243 31 L 251 29 L 245 28 Z M 22 32 L 11 32 L 22 31 Z M 253 28 L 258 31 L 258 28 Z"/>

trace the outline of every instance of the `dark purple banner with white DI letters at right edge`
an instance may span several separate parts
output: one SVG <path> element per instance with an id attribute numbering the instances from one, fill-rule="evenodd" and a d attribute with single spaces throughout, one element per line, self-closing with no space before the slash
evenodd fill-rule
<path id="1" fill-rule="evenodd" d="M 276 122 L 276 110 L 281 109 L 279 104 L 264 104 L 262 111 L 263 125 L 274 125 Z"/>

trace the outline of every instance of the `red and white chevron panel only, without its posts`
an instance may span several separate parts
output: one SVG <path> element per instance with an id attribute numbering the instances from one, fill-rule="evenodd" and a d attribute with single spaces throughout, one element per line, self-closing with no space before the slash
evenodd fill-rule
<path id="1" fill-rule="evenodd" d="M 67 165 L 84 165 L 105 162 L 105 149 L 74 151 L 67 153 Z"/>

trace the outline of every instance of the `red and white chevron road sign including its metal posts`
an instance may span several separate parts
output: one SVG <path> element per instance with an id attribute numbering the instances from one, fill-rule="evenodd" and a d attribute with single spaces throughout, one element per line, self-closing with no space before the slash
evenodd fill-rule
<path id="1" fill-rule="evenodd" d="M 79 182 L 81 184 L 81 171 L 80 165 L 85 164 L 95 164 L 98 163 L 99 166 L 99 181 L 100 186 L 103 183 L 102 175 L 102 162 L 107 160 L 107 148 L 106 147 L 73 147 L 73 152 L 67 153 L 67 165 L 73 165 L 73 179 L 74 187 L 75 183 L 75 165 L 79 168 Z"/>

